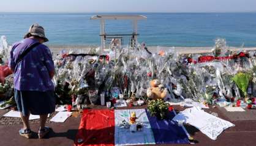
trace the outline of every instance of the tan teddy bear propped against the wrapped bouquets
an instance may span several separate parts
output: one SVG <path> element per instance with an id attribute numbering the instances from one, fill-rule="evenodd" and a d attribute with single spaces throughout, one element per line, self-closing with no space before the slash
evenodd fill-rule
<path id="1" fill-rule="evenodd" d="M 146 95 L 149 99 L 165 99 L 168 94 L 167 88 L 164 88 L 164 85 L 160 84 L 160 81 L 154 79 L 150 82 L 150 88 L 147 89 Z"/>

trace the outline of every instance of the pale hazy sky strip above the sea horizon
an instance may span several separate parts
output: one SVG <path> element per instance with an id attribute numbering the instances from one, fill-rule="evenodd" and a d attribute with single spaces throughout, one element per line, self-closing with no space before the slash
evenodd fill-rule
<path id="1" fill-rule="evenodd" d="M 256 0 L 2 0 L 0 12 L 256 12 Z"/>

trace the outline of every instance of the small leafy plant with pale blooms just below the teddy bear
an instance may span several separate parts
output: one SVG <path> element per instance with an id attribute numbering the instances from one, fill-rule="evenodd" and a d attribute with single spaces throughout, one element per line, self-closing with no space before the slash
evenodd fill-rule
<path id="1" fill-rule="evenodd" d="M 150 100 L 148 102 L 148 110 L 151 116 L 156 116 L 157 119 L 163 120 L 167 117 L 168 103 L 162 99 Z"/>

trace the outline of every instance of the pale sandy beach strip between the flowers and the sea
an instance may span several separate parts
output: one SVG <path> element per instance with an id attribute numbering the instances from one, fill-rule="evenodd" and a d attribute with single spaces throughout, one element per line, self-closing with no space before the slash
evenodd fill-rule
<path id="1" fill-rule="evenodd" d="M 48 45 L 53 54 L 60 54 L 61 50 L 84 50 L 88 52 L 92 47 L 99 47 L 96 45 Z M 211 53 L 213 47 L 167 47 L 167 46 L 147 46 L 151 52 L 159 52 L 159 50 L 173 49 L 179 54 L 205 54 Z M 228 47 L 232 51 L 255 51 L 256 47 Z"/>

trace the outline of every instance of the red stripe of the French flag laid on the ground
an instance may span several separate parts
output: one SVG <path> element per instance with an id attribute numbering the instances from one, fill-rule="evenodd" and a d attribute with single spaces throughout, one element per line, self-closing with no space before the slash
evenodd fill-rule
<path id="1" fill-rule="evenodd" d="M 80 140 L 82 142 L 78 143 Z M 115 112 L 110 109 L 85 109 L 75 138 L 76 146 L 115 144 Z"/>

